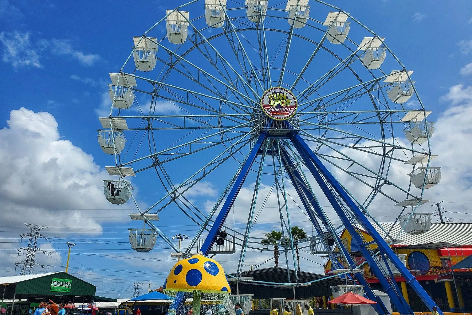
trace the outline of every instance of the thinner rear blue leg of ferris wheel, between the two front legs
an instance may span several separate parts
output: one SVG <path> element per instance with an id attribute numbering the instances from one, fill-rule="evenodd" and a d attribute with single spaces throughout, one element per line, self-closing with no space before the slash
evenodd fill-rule
<path id="1" fill-rule="evenodd" d="M 318 214 L 318 217 L 322 221 L 323 225 L 326 227 L 327 230 L 329 230 L 329 223 L 326 220 L 323 220 L 323 212 L 320 208 L 320 205 L 318 202 L 315 200 L 315 197 L 313 196 L 311 190 L 306 186 L 305 182 L 303 181 L 302 175 L 298 170 L 295 169 L 295 164 L 292 162 L 292 159 L 290 158 L 290 155 L 288 155 L 287 151 L 285 149 L 281 150 L 282 153 L 282 162 L 284 163 L 284 167 L 287 171 L 288 177 L 292 181 L 292 184 L 295 187 L 296 192 L 298 193 L 298 196 L 302 200 L 303 206 L 305 207 L 306 212 L 308 213 L 308 216 L 310 220 L 312 221 L 315 229 L 317 230 L 318 234 L 321 235 L 323 231 L 320 228 L 320 225 L 318 221 L 316 220 L 316 217 L 313 215 L 311 209 L 308 207 L 308 204 L 305 203 L 305 200 L 303 198 L 303 193 L 307 197 L 308 200 L 310 200 L 310 204 L 312 204 L 313 209 L 315 212 Z M 303 190 L 303 192 L 300 190 L 300 188 Z M 341 243 L 341 240 L 337 236 L 337 234 L 334 234 L 334 237 L 337 238 L 337 244 L 338 246 L 343 247 L 343 244 Z M 346 248 L 340 248 L 341 251 L 347 253 Z M 343 266 L 337 261 L 336 258 L 332 258 L 332 263 L 335 265 L 338 265 L 338 268 L 343 268 Z M 351 266 L 355 265 L 354 260 L 350 255 L 346 255 L 346 260 L 347 263 L 350 264 Z M 382 300 L 378 298 L 374 292 L 372 291 L 369 283 L 364 279 L 361 273 L 355 273 L 354 274 L 356 280 L 365 287 L 365 295 L 367 298 L 369 298 L 372 301 L 377 301 L 377 304 L 372 305 L 372 307 L 376 310 L 378 314 L 388 314 L 389 310 L 387 307 L 384 305 Z"/>

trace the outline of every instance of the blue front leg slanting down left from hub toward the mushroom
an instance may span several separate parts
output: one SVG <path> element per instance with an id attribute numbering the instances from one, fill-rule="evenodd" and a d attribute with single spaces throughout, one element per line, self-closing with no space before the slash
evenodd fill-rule
<path id="1" fill-rule="evenodd" d="M 261 133 L 256 143 L 254 144 L 253 148 L 251 149 L 251 152 L 249 153 L 246 160 L 244 161 L 243 167 L 241 168 L 241 171 L 239 172 L 235 180 L 235 183 L 233 184 L 233 187 L 231 187 L 231 190 L 229 191 L 229 194 L 226 197 L 225 203 L 223 204 L 223 207 L 218 213 L 218 216 L 215 219 L 215 222 L 213 223 L 213 226 L 211 227 L 210 232 L 208 233 L 208 236 L 202 245 L 202 248 L 200 249 L 200 251 L 203 252 L 203 255 L 207 256 L 208 253 L 210 252 L 211 247 L 213 247 L 213 243 L 215 242 L 216 235 L 221 229 L 223 222 L 226 220 L 229 210 L 231 210 L 231 207 L 233 206 L 236 200 L 236 196 L 239 193 L 239 190 L 241 189 L 241 187 L 243 186 L 244 179 L 249 173 L 249 170 L 251 169 L 251 166 L 253 165 L 254 159 L 256 158 L 257 153 L 259 152 L 259 149 L 261 148 L 262 143 L 264 142 L 264 139 L 266 138 L 266 136 L 267 136 L 266 132 Z"/>

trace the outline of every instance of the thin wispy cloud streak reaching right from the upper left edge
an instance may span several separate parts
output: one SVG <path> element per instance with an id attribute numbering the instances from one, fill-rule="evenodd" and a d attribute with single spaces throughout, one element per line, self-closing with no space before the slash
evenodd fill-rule
<path id="1" fill-rule="evenodd" d="M 0 8 L 1 9 L 1 8 Z M 48 50 L 53 55 L 66 55 L 79 61 L 80 64 L 90 67 L 100 60 L 97 54 L 87 54 L 73 48 L 70 40 L 31 39 L 31 32 L 1 32 L 0 42 L 3 44 L 2 61 L 11 63 L 14 68 L 30 66 L 42 68 L 40 57 Z"/>

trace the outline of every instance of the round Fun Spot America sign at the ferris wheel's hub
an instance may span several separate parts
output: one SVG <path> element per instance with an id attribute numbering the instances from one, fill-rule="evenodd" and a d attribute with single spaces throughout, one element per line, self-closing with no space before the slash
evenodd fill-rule
<path id="1" fill-rule="evenodd" d="M 271 87 L 261 98 L 264 114 L 275 120 L 285 120 L 295 115 L 298 104 L 295 95 L 283 87 Z"/>

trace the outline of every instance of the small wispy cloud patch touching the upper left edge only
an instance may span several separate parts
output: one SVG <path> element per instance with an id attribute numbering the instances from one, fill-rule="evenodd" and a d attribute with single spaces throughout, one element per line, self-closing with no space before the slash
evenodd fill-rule
<path id="1" fill-rule="evenodd" d="M 2 61 L 11 63 L 14 68 L 32 66 L 42 68 L 39 55 L 30 42 L 30 33 L 1 32 L 3 44 Z"/>

